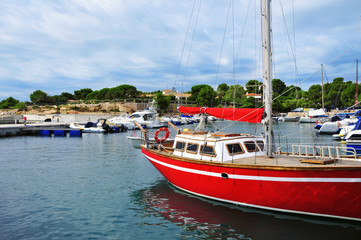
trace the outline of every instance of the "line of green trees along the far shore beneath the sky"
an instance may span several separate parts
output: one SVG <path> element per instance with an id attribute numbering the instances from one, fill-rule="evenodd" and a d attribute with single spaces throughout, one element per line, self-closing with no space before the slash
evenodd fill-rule
<path id="1" fill-rule="evenodd" d="M 273 79 L 273 111 L 288 112 L 295 108 L 321 108 L 322 106 L 322 86 L 312 85 L 308 91 L 293 85 L 287 86 L 280 79 Z M 324 105 L 330 110 L 334 108 L 346 108 L 355 104 L 356 83 L 345 82 L 343 78 L 335 78 L 331 83 L 326 83 L 324 89 Z M 360 89 L 361 90 L 361 89 Z M 260 107 L 263 93 L 263 83 L 257 80 L 250 80 L 245 86 L 227 85 L 222 83 L 215 90 L 210 85 L 195 85 L 189 92 L 191 96 L 187 103 L 198 106 L 223 107 L 236 106 L 241 108 Z M 246 93 L 248 93 L 246 95 Z M 161 109 L 166 109 L 171 101 L 175 101 L 175 96 L 164 96 L 160 90 L 155 92 L 141 92 L 136 87 L 128 84 L 119 85 L 113 88 L 103 88 L 93 91 L 90 88 L 83 88 L 74 93 L 63 92 L 60 95 L 49 95 L 41 90 L 36 90 L 30 94 L 31 102 L 20 102 L 9 97 L 0 102 L 0 109 L 25 110 L 29 104 L 35 105 L 61 105 L 69 100 L 84 101 L 116 101 L 123 99 L 145 99 L 146 94 L 153 94 Z M 257 94 L 253 95 L 252 94 Z M 255 97 L 256 96 L 256 97 Z M 361 97 L 361 96 L 360 96 Z"/>

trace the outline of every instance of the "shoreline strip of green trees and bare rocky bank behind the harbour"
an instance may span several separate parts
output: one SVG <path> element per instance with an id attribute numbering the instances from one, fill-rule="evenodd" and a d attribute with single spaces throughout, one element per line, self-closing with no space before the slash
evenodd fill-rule
<path id="1" fill-rule="evenodd" d="M 291 112 L 296 108 L 321 108 L 322 86 L 312 85 L 308 91 L 293 85 L 287 86 L 280 79 L 273 79 L 273 111 Z M 131 113 L 145 109 L 156 99 L 160 113 L 175 113 L 177 105 L 202 107 L 250 108 L 262 106 L 262 83 L 250 80 L 245 86 L 222 83 L 215 90 L 210 85 L 200 84 L 186 93 L 173 90 L 141 92 L 128 84 L 113 88 L 92 90 L 83 88 L 74 93 L 63 92 L 49 95 L 42 90 L 30 94 L 30 102 L 20 102 L 9 97 L 0 101 L 2 114 L 85 114 L 85 113 Z M 328 111 L 355 105 L 356 83 L 335 78 L 323 85 L 324 106 Z M 361 94 L 359 95 L 361 97 Z"/>

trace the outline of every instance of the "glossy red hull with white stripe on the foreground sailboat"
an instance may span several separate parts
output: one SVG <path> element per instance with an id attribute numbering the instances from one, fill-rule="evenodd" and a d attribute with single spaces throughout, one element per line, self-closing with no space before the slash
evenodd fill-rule
<path id="1" fill-rule="evenodd" d="M 211 199 L 290 213 L 361 221 L 360 170 L 225 166 L 143 154 L 176 187 Z"/>

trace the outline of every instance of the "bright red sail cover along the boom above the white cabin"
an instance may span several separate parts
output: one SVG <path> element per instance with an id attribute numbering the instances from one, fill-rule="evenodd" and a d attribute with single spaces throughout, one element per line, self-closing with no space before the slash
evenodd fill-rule
<path id="1" fill-rule="evenodd" d="M 179 107 L 178 111 L 187 114 L 207 113 L 213 117 L 226 120 L 260 123 L 264 108 Z"/>

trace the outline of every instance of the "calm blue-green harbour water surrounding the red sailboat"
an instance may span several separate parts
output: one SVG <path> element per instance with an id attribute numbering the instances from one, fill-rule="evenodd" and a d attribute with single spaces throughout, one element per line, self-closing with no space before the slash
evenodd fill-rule
<path id="1" fill-rule="evenodd" d="M 261 132 L 240 123 L 228 130 L 239 126 Z M 312 134 L 312 127 L 276 125 L 275 140 L 338 144 Z M 279 131 L 295 134 L 281 140 Z M 361 223 L 239 208 L 179 192 L 132 147 L 131 133 L 0 138 L 0 239 L 361 238 Z"/>

